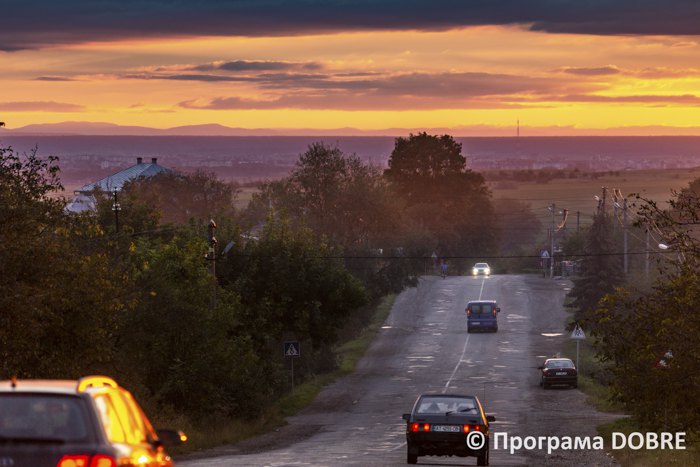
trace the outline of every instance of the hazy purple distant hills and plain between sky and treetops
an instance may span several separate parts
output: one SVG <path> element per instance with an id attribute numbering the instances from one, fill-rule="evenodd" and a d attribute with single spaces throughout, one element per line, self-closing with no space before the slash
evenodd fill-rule
<path id="1" fill-rule="evenodd" d="M 700 167 L 700 136 L 464 136 L 452 130 L 433 128 L 413 133 L 453 135 L 462 144 L 468 167 L 477 171 Z M 316 142 L 386 167 L 395 138 L 411 132 L 251 130 L 216 124 L 154 129 L 64 122 L 0 128 L 0 147 L 10 145 L 19 152 L 37 148 L 40 156 L 58 156 L 62 180 L 71 187 L 123 170 L 137 158 L 157 158 L 159 164 L 185 172 L 204 169 L 227 179 L 253 181 L 286 175 L 299 155 Z"/>

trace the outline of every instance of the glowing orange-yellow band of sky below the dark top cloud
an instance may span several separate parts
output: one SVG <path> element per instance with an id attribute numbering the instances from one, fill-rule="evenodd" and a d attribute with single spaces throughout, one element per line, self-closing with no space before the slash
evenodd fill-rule
<path id="1" fill-rule="evenodd" d="M 0 120 L 700 135 L 699 47 L 694 35 L 513 25 L 88 37 L 0 51 Z"/>

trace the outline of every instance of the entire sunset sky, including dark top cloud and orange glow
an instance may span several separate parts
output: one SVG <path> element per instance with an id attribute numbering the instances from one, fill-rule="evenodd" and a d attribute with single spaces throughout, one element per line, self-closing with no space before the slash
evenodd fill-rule
<path id="1" fill-rule="evenodd" d="M 700 135 L 694 0 L 24 0 L 0 18 L 8 130 Z"/>

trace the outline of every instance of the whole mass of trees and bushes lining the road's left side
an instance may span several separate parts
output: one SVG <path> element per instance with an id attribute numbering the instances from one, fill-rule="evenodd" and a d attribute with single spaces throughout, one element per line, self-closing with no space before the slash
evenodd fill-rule
<path id="1" fill-rule="evenodd" d="M 135 180 L 117 225 L 105 195 L 95 215 L 64 212 L 56 159 L 0 148 L 2 377 L 106 373 L 193 421 L 259 414 L 287 388 L 285 340 L 304 349 L 297 378 L 333 369 L 347 324 L 414 284 L 435 248 L 491 244 L 493 232 L 448 229 L 469 210 L 492 220 L 483 179 L 462 170 L 441 195 L 419 194 L 437 216 L 428 226 L 381 171 L 322 144 L 245 212 L 211 175 Z"/>

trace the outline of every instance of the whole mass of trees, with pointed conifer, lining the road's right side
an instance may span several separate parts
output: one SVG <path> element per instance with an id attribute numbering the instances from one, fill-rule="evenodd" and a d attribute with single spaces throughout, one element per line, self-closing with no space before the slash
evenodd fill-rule
<path id="1" fill-rule="evenodd" d="M 612 375 L 614 399 L 646 430 L 697 433 L 700 427 L 699 193 L 700 179 L 677 193 L 669 209 L 640 198 L 636 227 L 652 230 L 670 252 L 646 281 L 625 281 L 619 255 L 611 254 L 617 248 L 611 219 L 599 212 L 570 294 Z"/>

